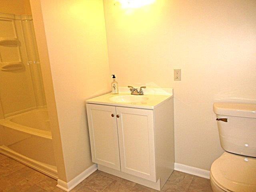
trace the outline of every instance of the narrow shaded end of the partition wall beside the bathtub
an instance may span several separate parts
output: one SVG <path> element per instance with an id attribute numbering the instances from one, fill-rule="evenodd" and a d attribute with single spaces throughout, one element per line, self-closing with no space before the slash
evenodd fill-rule
<path id="1" fill-rule="evenodd" d="M 54 156 L 58 170 L 58 178 L 66 181 L 66 168 L 64 164 L 62 142 L 60 138 L 60 128 L 58 115 L 56 110 L 56 102 L 54 88 L 52 84 L 52 72 L 48 55 L 48 47 L 46 42 L 44 22 L 42 17 L 40 0 L 31 0 L 32 15 L 34 18 L 34 28 L 36 33 L 36 42 L 42 69 L 42 78 L 44 82 L 44 91 L 47 103 L 47 109 L 50 119 L 50 127 L 52 131 L 52 142 L 54 146 Z"/>

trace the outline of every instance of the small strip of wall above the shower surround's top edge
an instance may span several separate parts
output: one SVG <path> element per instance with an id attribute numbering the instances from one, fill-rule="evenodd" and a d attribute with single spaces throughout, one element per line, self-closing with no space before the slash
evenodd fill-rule
<path id="1" fill-rule="evenodd" d="M 0 13 L 31 15 L 29 0 L 0 0 Z"/>

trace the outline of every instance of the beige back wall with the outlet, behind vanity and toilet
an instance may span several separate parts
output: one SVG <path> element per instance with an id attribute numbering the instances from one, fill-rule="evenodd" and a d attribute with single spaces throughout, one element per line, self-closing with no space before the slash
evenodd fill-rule
<path id="1" fill-rule="evenodd" d="M 110 72 L 119 86 L 173 87 L 175 161 L 209 170 L 223 152 L 212 104 L 256 102 L 256 1 L 114 2 L 104 0 Z"/>

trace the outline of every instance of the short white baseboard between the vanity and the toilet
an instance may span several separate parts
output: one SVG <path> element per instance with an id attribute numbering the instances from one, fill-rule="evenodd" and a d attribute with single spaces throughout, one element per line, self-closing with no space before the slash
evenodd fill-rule
<path id="1" fill-rule="evenodd" d="M 179 163 L 174 163 L 174 170 L 210 179 L 210 171 L 208 170 L 191 167 Z"/>

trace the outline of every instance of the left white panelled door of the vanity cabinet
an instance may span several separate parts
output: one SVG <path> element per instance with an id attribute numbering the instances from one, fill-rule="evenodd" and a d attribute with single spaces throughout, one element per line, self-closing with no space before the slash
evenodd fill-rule
<path id="1" fill-rule="evenodd" d="M 116 107 L 86 104 L 92 162 L 120 170 Z"/>

